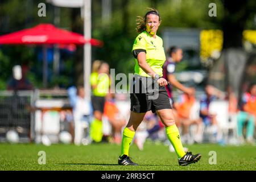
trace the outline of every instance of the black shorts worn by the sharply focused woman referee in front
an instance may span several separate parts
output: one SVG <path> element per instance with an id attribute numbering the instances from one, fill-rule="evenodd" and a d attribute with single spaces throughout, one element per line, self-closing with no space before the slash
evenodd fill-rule
<path id="1" fill-rule="evenodd" d="M 130 86 L 131 111 L 146 113 L 172 109 L 165 86 L 158 85 L 151 77 L 134 75 Z"/>

